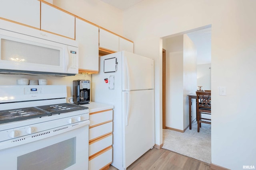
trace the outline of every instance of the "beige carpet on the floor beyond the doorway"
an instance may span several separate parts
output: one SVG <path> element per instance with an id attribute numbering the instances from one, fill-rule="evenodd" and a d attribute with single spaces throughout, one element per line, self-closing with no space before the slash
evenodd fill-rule
<path id="1" fill-rule="evenodd" d="M 211 125 L 202 123 L 197 132 L 197 122 L 192 123 L 192 129 L 184 132 L 163 129 L 163 147 L 191 158 L 211 163 Z"/>

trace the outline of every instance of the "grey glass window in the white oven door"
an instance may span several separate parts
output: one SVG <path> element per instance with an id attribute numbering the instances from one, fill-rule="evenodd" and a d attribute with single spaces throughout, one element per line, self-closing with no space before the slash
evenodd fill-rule
<path id="1" fill-rule="evenodd" d="M 76 163 L 76 137 L 18 156 L 17 170 L 64 170 Z"/>

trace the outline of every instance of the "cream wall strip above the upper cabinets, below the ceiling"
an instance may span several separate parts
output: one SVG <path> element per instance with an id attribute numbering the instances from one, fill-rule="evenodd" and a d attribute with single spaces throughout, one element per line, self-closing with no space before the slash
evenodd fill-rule
<path id="1" fill-rule="evenodd" d="M 101 0 L 53 0 L 53 4 L 118 35 L 123 35 L 122 11 Z"/>

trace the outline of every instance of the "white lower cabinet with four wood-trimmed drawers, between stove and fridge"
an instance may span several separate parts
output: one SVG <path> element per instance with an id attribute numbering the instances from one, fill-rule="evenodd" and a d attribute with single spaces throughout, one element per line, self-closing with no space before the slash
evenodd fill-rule
<path id="1" fill-rule="evenodd" d="M 89 170 L 107 170 L 112 163 L 113 110 L 89 114 Z"/>

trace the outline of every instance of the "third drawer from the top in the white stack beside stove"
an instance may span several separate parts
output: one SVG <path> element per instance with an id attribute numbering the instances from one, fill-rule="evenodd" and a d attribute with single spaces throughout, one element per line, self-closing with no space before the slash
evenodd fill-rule
<path id="1" fill-rule="evenodd" d="M 89 156 L 92 156 L 93 154 L 96 154 L 97 152 L 100 152 L 100 150 L 103 150 L 113 143 L 113 135 L 109 134 L 106 137 L 103 137 L 102 139 L 98 139 L 92 143 L 89 143 Z"/>

